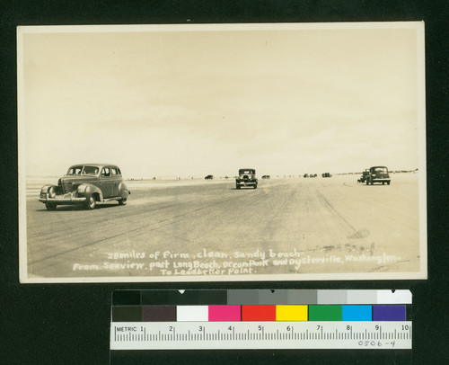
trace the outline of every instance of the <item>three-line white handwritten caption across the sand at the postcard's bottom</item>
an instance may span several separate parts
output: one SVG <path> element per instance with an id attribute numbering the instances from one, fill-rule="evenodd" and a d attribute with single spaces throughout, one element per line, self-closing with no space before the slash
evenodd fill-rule
<path id="1" fill-rule="evenodd" d="M 197 258 L 197 260 L 196 260 Z M 198 259 L 211 259 L 200 261 Z M 130 261 L 135 259 L 135 261 Z M 196 254 L 164 252 L 136 252 L 109 253 L 108 262 L 101 264 L 74 263 L 73 271 L 99 271 L 99 270 L 138 270 L 148 271 L 149 275 L 176 276 L 176 275 L 236 275 L 244 273 L 260 273 L 261 269 L 269 266 L 288 266 L 300 272 L 304 265 L 343 264 L 343 263 L 390 263 L 401 260 L 395 255 L 322 255 L 312 257 L 296 250 L 290 252 L 268 252 L 259 249 L 252 253 L 236 251 L 233 253 L 207 251 L 203 249 Z M 126 261 L 125 261 L 126 260 Z M 141 261 L 137 261 L 141 260 Z"/>

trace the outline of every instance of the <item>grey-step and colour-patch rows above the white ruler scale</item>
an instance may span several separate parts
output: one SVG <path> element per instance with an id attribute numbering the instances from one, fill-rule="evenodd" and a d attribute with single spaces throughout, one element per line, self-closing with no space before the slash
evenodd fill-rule
<path id="1" fill-rule="evenodd" d="M 112 322 L 405 321 L 409 290 L 116 290 Z"/>

